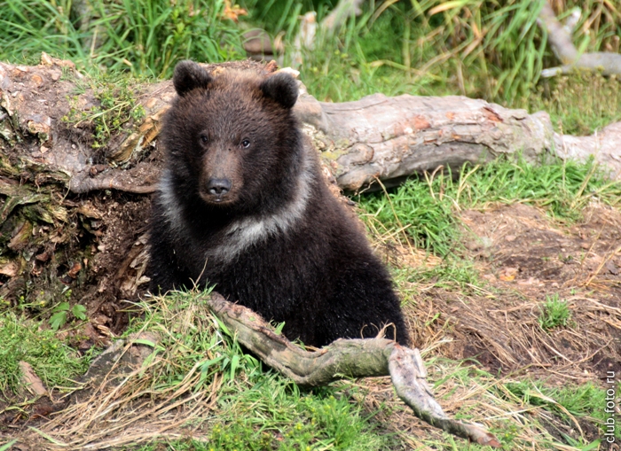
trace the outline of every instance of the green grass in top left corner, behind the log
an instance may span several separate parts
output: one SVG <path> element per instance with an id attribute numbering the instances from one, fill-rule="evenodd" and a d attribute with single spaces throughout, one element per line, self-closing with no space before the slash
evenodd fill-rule
<path id="1" fill-rule="evenodd" d="M 169 76 L 177 61 L 242 58 L 224 0 L 0 2 L 0 59 L 32 63 L 41 51 L 133 74 Z"/>

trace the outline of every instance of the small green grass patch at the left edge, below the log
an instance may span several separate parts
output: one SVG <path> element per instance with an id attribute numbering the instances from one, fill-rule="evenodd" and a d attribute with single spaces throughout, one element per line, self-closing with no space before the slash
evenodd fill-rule
<path id="1" fill-rule="evenodd" d="M 20 361 L 30 363 L 43 384 L 53 387 L 83 374 L 90 355 L 78 356 L 41 323 L 4 312 L 0 314 L 0 392 L 17 392 Z"/>

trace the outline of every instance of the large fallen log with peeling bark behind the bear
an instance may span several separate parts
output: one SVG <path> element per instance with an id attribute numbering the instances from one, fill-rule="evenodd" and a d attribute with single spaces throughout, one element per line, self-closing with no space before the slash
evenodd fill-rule
<path id="1" fill-rule="evenodd" d="M 250 62 L 208 68 L 251 69 L 266 75 L 277 69 L 273 63 Z M 126 126 L 93 149 L 93 128 L 107 127 L 97 125 L 106 111 L 96 83 L 85 82 L 70 62 L 46 55 L 39 66 L 0 63 L 3 175 L 14 176 L 7 167 L 20 167 L 37 183 L 62 183 L 75 193 L 154 191 L 161 169 L 157 136 L 161 115 L 174 97 L 172 84 L 133 86 L 137 102 L 132 111 L 140 108 L 145 113 L 139 119 L 128 113 Z M 440 166 L 459 169 L 467 161 L 484 163 L 515 152 L 531 160 L 550 154 L 593 155 L 613 176 L 621 173 L 616 124 L 604 129 L 607 145 L 601 145 L 593 137 L 554 133 L 546 113 L 529 114 L 483 100 L 375 94 L 332 104 L 318 102 L 303 85 L 295 113 L 326 168 L 347 191 L 358 191 L 378 178 L 391 185 Z M 10 163 L 4 161 L 7 157 Z"/>

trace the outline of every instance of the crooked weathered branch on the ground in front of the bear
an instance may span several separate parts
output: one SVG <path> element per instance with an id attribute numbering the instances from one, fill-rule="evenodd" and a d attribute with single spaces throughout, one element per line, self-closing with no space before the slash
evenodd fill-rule
<path id="1" fill-rule="evenodd" d="M 339 339 L 317 351 L 305 351 L 280 335 L 252 310 L 212 293 L 208 307 L 237 336 L 240 344 L 298 385 L 327 385 L 342 377 L 389 376 L 401 400 L 421 420 L 463 439 L 500 447 L 498 439 L 476 424 L 452 420 L 433 397 L 418 349 L 386 338 Z"/>

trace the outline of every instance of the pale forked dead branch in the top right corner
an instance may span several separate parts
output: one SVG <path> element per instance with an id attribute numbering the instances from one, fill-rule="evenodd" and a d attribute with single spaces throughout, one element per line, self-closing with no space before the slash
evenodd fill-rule
<path id="1" fill-rule="evenodd" d="M 538 24 L 546 30 L 550 46 L 563 65 L 546 69 L 542 72 L 542 76 L 568 74 L 576 68 L 590 71 L 601 70 L 601 73 L 605 75 L 621 75 L 621 55 L 605 51 L 581 54 L 573 44 L 570 32 L 556 19 L 554 10 L 548 2 L 544 2 L 539 12 Z"/>

